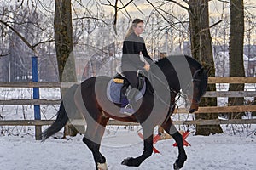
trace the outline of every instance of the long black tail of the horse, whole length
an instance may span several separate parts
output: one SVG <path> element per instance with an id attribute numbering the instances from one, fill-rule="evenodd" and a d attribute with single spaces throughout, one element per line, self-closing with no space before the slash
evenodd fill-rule
<path id="1" fill-rule="evenodd" d="M 62 127 L 65 127 L 69 120 L 67 112 L 70 116 L 70 114 L 73 114 L 73 111 L 76 111 L 76 105 L 74 103 L 73 96 L 78 87 L 79 86 L 77 84 L 74 84 L 71 88 L 68 88 L 65 96 L 61 101 L 60 109 L 57 113 L 57 118 L 55 122 L 53 122 L 52 125 L 44 130 L 44 132 L 41 134 L 42 142 L 44 142 L 45 139 L 48 139 L 55 133 L 59 132 Z"/>

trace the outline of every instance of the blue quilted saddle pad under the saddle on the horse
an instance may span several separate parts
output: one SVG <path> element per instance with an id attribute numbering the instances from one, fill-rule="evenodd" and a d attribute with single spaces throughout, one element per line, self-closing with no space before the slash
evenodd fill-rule
<path id="1" fill-rule="evenodd" d="M 110 101 L 112 101 L 113 103 L 116 103 L 116 104 L 121 104 L 121 88 L 123 87 L 123 83 L 116 83 L 116 82 L 113 82 L 113 79 L 111 79 L 109 82 L 108 82 L 108 87 L 107 87 L 107 96 L 108 96 L 108 99 Z M 143 98 L 143 95 L 145 94 L 145 91 L 146 91 L 146 83 L 144 81 L 143 83 L 143 88 L 140 90 L 140 93 L 138 93 L 136 96 L 135 96 L 135 100 L 139 100 L 139 99 L 142 99 Z"/>

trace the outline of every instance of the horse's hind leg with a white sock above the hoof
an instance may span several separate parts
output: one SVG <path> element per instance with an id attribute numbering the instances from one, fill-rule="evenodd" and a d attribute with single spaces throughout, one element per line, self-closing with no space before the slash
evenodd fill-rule
<path id="1" fill-rule="evenodd" d="M 106 158 L 102 156 L 100 152 L 100 147 L 101 147 L 101 141 L 102 141 L 102 136 L 105 131 L 105 127 L 108 122 L 108 118 L 99 118 L 99 122 L 89 122 L 87 124 L 87 129 L 84 134 L 83 142 L 84 144 L 87 145 L 87 147 L 90 149 L 95 165 L 96 165 L 96 170 L 107 170 L 107 163 L 106 163 Z"/>

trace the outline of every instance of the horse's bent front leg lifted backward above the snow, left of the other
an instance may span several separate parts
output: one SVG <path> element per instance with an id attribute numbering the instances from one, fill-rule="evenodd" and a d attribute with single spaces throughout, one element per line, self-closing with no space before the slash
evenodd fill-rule
<path id="1" fill-rule="evenodd" d="M 138 167 L 141 163 L 152 155 L 153 152 L 153 129 L 146 130 L 143 129 L 143 142 L 144 142 L 144 150 L 141 156 L 136 158 L 128 157 L 124 161 L 122 161 L 122 165 L 126 165 L 129 167 Z"/>

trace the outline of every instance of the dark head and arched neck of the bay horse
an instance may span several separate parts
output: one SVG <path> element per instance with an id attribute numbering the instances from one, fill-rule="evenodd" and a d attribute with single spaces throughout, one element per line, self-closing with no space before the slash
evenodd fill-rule
<path id="1" fill-rule="evenodd" d="M 172 55 L 157 61 L 152 69 L 152 72 L 156 75 L 155 82 L 161 82 L 162 85 L 166 83 L 163 82 L 165 78 L 155 73 L 157 68 L 160 68 L 160 71 L 163 72 L 169 88 L 172 89 L 171 91 L 177 92 L 176 94 L 181 91 L 181 94 L 189 100 L 191 104 L 189 112 L 198 111 L 201 97 L 207 91 L 208 71 L 192 57 Z M 165 88 L 160 88 L 157 93 L 160 94 L 163 89 Z"/>

